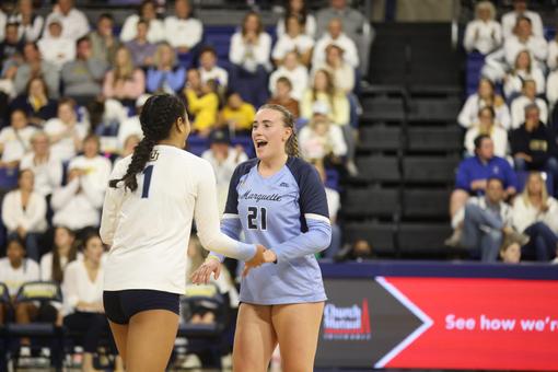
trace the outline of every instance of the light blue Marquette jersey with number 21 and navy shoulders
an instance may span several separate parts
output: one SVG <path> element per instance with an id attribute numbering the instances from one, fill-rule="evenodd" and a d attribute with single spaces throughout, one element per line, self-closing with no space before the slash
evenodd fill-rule
<path id="1" fill-rule="evenodd" d="M 329 246 L 332 226 L 324 186 L 316 170 L 289 158 L 263 177 L 258 160 L 240 164 L 231 179 L 221 230 L 277 254 L 276 264 L 252 269 L 241 284 L 241 301 L 286 304 L 325 301 L 322 271 L 314 256 Z"/>

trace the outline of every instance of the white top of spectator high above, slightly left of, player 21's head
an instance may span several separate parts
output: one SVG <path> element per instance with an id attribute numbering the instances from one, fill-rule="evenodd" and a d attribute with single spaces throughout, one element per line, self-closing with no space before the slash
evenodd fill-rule
<path id="1" fill-rule="evenodd" d="M 231 38 L 231 49 L 229 50 L 229 60 L 235 65 L 244 66 L 247 69 L 258 65 L 269 67 L 269 55 L 271 51 L 271 36 L 263 32 L 258 36 L 255 45 L 248 45 L 244 42 L 241 32 L 236 32 Z"/>

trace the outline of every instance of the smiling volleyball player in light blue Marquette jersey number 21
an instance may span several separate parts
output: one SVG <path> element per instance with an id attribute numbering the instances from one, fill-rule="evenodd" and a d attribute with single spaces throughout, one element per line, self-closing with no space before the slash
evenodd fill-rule
<path id="1" fill-rule="evenodd" d="M 316 170 L 298 158 L 293 117 L 282 106 L 256 114 L 252 139 L 257 159 L 236 167 L 221 230 L 269 247 L 272 264 L 247 266 L 233 349 L 234 371 L 267 371 L 279 344 L 283 371 L 312 371 L 326 294 L 314 254 L 329 246 L 326 195 Z M 219 275 L 211 254 L 194 282 Z"/>

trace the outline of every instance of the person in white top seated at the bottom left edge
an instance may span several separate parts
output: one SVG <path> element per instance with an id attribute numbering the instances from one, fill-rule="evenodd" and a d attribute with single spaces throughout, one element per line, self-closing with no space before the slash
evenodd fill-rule
<path id="1" fill-rule="evenodd" d="M 25 258 L 25 242 L 19 236 L 9 237 L 5 246 L 5 257 L 0 258 L 0 282 L 8 287 L 10 300 L 13 303 L 20 287 L 26 282 L 39 280 L 40 275 L 38 264 L 33 259 Z M 33 302 L 20 303 L 15 306 L 15 323 L 30 323 L 36 313 L 37 307 Z M 5 321 L 5 314 L 0 316 L 0 318 L 2 317 Z M 24 344 L 23 339 L 22 344 Z M 28 339 L 25 339 L 25 344 L 28 345 Z"/>

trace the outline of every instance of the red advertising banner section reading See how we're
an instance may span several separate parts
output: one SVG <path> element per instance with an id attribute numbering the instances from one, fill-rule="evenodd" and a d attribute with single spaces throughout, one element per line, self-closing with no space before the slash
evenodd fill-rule
<path id="1" fill-rule="evenodd" d="M 557 281 L 376 280 L 423 322 L 376 367 L 558 370 Z"/>

